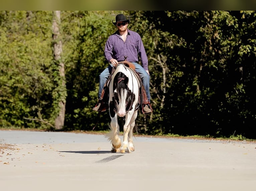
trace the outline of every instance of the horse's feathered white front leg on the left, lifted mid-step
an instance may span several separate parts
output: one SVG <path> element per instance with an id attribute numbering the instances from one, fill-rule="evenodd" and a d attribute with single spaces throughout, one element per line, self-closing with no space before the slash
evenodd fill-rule
<path id="1" fill-rule="evenodd" d="M 117 152 L 117 149 L 121 147 L 121 139 L 118 136 L 119 134 L 119 125 L 117 121 L 117 114 L 112 118 L 111 117 L 111 122 L 110 122 L 110 132 L 105 135 L 105 137 L 108 138 L 108 140 L 111 141 L 112 143 L 112 152 Z"/>

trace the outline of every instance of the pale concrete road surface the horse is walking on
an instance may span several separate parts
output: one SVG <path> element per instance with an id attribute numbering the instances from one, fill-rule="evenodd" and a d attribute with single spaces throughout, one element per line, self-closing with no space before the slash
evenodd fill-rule
<path id="1" fill-rule="evenodd" d="M 1 191 L 255 191 L 256 144 L 136 137 L 111 153 L 104 135 L 0 130 Z"/>

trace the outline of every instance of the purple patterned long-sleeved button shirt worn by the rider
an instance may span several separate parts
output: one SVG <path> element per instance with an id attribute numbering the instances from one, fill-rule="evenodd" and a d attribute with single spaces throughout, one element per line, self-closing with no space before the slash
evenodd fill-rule
<path id="1" fill-rule="evenodd" d="M 145 70 L 148 70 L 146 51 L 138 33 L 128 30 L 125 42 L 119 35 L 118 31 L 109 36 L 104 50 L 104 56 L 107 61 L 110 62 L 113 58 L 120 62 L 124 61 L 124 57 L 127 56 L 128 62 L 138 63 L 138 55 L 140 57 L 142 67 Z"/>

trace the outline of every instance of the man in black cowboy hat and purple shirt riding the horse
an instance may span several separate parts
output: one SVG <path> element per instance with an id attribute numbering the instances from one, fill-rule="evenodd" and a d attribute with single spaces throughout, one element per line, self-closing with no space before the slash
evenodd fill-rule
<path id="1" fill-rule="evenodd" d="M 139 73 L 142 84 L 146 92 L 146 104 L 142 105 L 142 112 L 148 114 L 152 112 L 152 107 L 150 105 L 150 93 L 149 93 L 149 71 L 148 71 L 148 59 L 147 55 L 141 40 L 141 37 L 138 33 L 128 30 L 127 26 L 130 23 L 130 18 L 126 19 L 123 14 L 116 15 L 116 22 L 112 23 L 117 27 L 117 31 L 110 35 L 104 50 L 104 56 L 107 61 L 110 62 L 108 68 L 106 68 L 100 74 L 100 87 L 98 98 L 99 101 L 96 106 L 93 108 L 95 111 L 105 111 L 106 110 L 106 101 L 103 101 L 104 95 L 104 85 L 111 74 L 113 66 L 115 67 L 118 62 L 124 61 L 127 59 L 128 62 L 131 62 L 135 65 L 135 71 Z M 141 65 L 138 64 L 138 55 L 141 59 Z M 103 91 L 103 92 L 102 92 Z"/>

